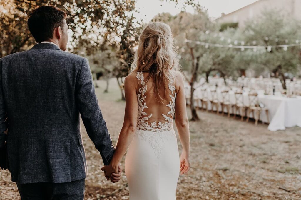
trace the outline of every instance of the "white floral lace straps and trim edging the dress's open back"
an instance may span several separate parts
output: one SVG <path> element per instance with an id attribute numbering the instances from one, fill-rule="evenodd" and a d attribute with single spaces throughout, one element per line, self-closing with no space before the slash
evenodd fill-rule
<path id="1" fill-rule="evenodd" d="M 175 113 L 175 98 L 176 98 L 175 85 L 173 84 L 174 78 L 172 77 L 172 75 L 169 73 L 170 82 L 168 84 L 168 88 L 171 91 L 171 94 L 169 94 L 171 101 L 169 102 L 169 104 L 166 105 L 170 108 L 170 111 L 166 115 L 162 114 L 162 116 L 165 119 L 165 122 L 154 121 L 154 122 L 151 122 L 151 124 L 149 124 L 147 122 L 147 120 L 149 118 L 151 118 L 151 116 L 153 114 L 150 114 L 147 116 L 147 113 L 144 112 L 144 109 L 148 108 L 148 107 L 146 106 L 146 103 L 145 103 L 145 98 L 147 97 L 147 95 L 144 96 L 144 94 L 147 90 L 147 85 L 145 85 L 143 73 L 137 72 L 136 78 L 138 79 L 138 81 L 139 80 L 141 81 L 141 87 L 138 88 L 139 93 L 137 94 L 137 100 L 138 100 L 137 127 L 138 127 L 138 129 L 152 131 L 152 132 L 163 132 L 163 131 L 172 130 L 173 129 L 172 120 L 173 120 L 173 116 Z M 167 115 L 170 115 L 171 117 L 169 117 Z"/>

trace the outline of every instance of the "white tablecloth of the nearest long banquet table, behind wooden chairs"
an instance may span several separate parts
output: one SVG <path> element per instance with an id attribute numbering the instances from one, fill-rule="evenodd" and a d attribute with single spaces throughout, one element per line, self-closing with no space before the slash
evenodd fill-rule
<path id="1" fill-rule="evenodd" d="M 212 99 L 210 89 L 207 88 L 207 97 Z M 268 118 L 265 112 L 260 113 L 260 121 L 268 123 L 268 130 L 277 131 L 285 130 L 286 127 L 299 126 L 301 127 L 301 97 L 283 97 L 279 95 L 264 95 L 264 91 L 258 91 L 259 103 L 263 104 L 265 108 L 268 108 Z M 195 97 L 201 98 L 200 88 L 195 90 Z M 222 102 L 222 93 L 217 90 L 217 97 Z M 229 101 L 235 104 L 234 91 L 229 91 Z M 244 105 L 249 105 L 248 92 L 243 93 Z M 197 106 L 201 106 L 200 101 L 194 102 Z M 211 110 L 211 105 L 208 105 Z M 219 106 L 219 111 L 222 111 Z M 224 110 L 226 112 L 226 109 Z M 231 111 L 233 112 L 233 111 Z M 233 113 L 232 113 L 233 114 Z M 253 118 L 251 115 L 250 118 Z M 269 120 L 268 120 L 269 119 Z"/>

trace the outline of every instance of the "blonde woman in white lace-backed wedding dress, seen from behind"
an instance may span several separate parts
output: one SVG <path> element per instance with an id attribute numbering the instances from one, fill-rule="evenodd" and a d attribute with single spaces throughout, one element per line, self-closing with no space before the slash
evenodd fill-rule
<path id="1" fill-rule="evenodd" d="M 125 174 L 130 200 L 175 200 L 179 173 L 190 169 L 184 80 L 178 68 L 170 27 L 149 23 L 125 79 L 126 109 L 116 149 L 110 164 L 102 168 L 114 180 L 128 150 Z M 174 115 L 183 148 L 180 158 Z"/>

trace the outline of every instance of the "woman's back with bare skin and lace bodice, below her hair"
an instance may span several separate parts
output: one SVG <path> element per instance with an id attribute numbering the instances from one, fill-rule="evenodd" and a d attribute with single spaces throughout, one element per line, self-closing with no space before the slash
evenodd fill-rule
<path id="1" fill-rule="evenodd" d="M 154 81 L 150 77 L 146 81 L 148 73 L 137 72 L 138 79 L 138 122 L 137 128 L 153 132 L 168 131 L 172 129 L 173 116 L 175 113 L 176 86 L 175 77 L 169 73 L 170 81 L 168 88 L 159 86 L 159 94 L 163 97 L 160 102 L 154 91 Z"/>

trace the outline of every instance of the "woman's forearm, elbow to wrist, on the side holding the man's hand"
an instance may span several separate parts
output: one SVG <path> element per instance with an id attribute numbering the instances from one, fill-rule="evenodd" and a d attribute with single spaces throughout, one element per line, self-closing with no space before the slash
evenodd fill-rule
<path id="1" fill-rule="evenodd" d="M 126 150 L 129 148 L 129 145 L 132 142 L 135 131 L 136 131 L 136 127 L 123 126 L 123 128 L 119 133 L 118 141 L 110 165 L 112 166 L 119 165 L 124 154 L 126 153 Z"/>

